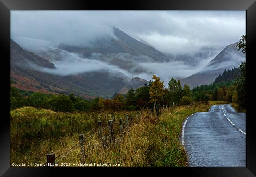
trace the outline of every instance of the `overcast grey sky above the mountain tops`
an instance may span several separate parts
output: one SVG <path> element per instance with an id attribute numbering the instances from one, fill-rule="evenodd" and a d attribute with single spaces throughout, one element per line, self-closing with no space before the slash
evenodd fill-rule
<path id="1" fill-rule="evenodd" d="M 163 53 L 222 50 L 246 31 L 245 11 L 11 11 L 11 39 L 36 44 L 87 46 L 113 37 L 115 26 Z"/>

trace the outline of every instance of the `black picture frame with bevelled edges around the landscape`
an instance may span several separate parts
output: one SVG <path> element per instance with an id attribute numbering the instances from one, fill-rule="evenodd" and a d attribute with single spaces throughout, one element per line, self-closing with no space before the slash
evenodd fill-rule
<path id="1" fill-rule="evenodd" d="M 10 167 L 10 125 L 9 109 L 9 55 L 10 55 L 10 10 L 246 10 L 246 34 L 247 34 L 247 121 L 246 121 L 246 167 L 245 168 L 115 168 L 112 173 L 121 173 L 126 170 L 126 174 L 136 172 L 165 172 L 167 175 L 186 173 L 195 176 L 254 176 L 256 175 L 256 133 L 254 128 L 253 97 L 254 87 L 252 84 L 253 74 L 252 62 L 255 57 L 256 44 L 256 2 L 255 0 L 147 0 L 147 1 L 119 1 L 110 3 L 109 1 L 92 0 L 0 0 L 0 48 L 2 49 L 2 95 L 5 96 L 1 116 L 0 133 L 0 174 L 2 176 L 48 176 L 53 172 L 63 173 L 64 176 L 76 175 L 82 172 L 88 175 L 87 171 L 105 173 L 113 168 L 15 168 Z M 75 173 L 74 173 L 75 172 Z"/>

